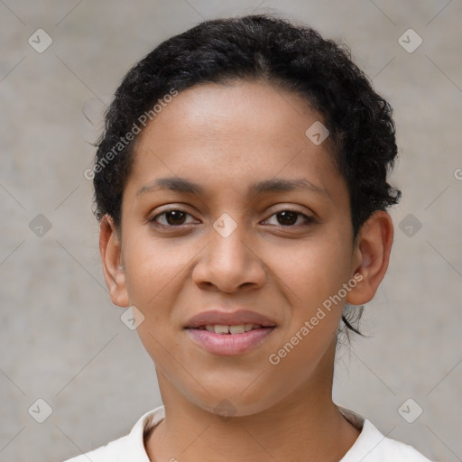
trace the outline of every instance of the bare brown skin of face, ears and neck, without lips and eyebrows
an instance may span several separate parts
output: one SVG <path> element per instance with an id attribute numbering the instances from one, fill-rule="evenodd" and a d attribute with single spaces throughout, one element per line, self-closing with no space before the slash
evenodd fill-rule
<path id="1" fill-rule="evenodd" d="M 393 224 L 377 211 L 353 239 L 347 185 L 329 140 L 318 146 L 305 135 L 317 120 L 304 99 L 266 83 L 207 84 L 180 92 L 135 145 L 121 228 L 103 218 L 100 250 L 112 301 L 144 317 L 138 334 L 166 411 L 145 440 L 152 461 L 336 461 L 359 435 L 332 402 L 336 333 L 345 301 L 374 297 Z M 207 193 L 137 194 L 172 176 Z M 254 182 L 274 178 L 303 178 L 322 190 L 247 195 Z M 189 215 L 157 217 L 170 228 L 156 227 L 150 220 L 166 208 Z M 284 222 L 284 210 L 314 221 Z M 213 227 L 225 213 L 236 223 L 227 237 Z M 268 357 L 356 273 L 362 281 L 272 365 Z M 184 327 L 217 307 L 254 310 L 276 328 L 245 355 L 211 355 Z M 223 400 L 233 406 L 227 420 L 216 410 Z"/>

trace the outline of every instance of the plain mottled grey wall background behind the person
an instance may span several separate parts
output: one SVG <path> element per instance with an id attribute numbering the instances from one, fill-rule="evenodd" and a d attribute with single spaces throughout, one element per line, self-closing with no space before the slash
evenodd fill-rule
<path id="1" fill-rule="evenodd" d="M 462 460 L 461 0 L 1 0 L 1 461 L 63 460 L 161 404 L 103 281 L 83 174 L 91 143 L 120 79 L 155 44 L 202 18 L 273 11 L 346 42 L 398 127 L 392 262 L 365 308 L 372 337 L 338 356 L 335 401 L 427 457 Z M 39 28 L 53 41 L 42 53 L 28 43 Z M 409 28 L 423 39 L 413 52 L 398 42 Z M 39 398 L 52 408 L 42 424 L 28 412 Z M 423 410 L 412 423 L 398 411 L 409 398 L 408 416 Z"/>

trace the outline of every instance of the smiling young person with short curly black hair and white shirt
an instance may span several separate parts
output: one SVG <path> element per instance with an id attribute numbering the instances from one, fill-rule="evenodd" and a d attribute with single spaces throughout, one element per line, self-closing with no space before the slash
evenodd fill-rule
<path id="1" fill-rule="evenodd" d="M 338 333 L 388 266 L 396 153 L 392 108 L 310 28 L 207 21 L 138 62 L 89 176 L 163 406 L 71 460 L 428 461 L 332 401 Z"/>

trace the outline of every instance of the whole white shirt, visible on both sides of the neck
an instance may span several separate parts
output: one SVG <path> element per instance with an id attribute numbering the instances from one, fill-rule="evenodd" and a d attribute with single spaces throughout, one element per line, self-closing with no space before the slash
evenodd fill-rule
<path id="1" fill-rule="evenodd" d="M 383 436 L 369 420 L 356 412 L 337 408 L 356 429 L 361 430 L 355 444 L 339 462 L 431 462 L 411 446 Z M 144 433 L 152 430 L 164 417 L 163 406 L 146 412 L 125 437 L 65 462 L 150 462 L 144 449 Z"/>

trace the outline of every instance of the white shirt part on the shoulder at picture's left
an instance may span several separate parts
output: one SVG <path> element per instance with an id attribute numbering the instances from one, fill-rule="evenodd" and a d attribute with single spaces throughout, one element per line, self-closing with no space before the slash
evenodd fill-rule
<path id="1" fill-rule="evenodd" d="M 152 429 L 165 417 L 164 407 L 160 406 L 146 412 L 135 424 L 128 435 L 115 439 L 92 451 L 82 453 L 64 462 L 149 462 L 144 449 L 144 432 Z"/>

